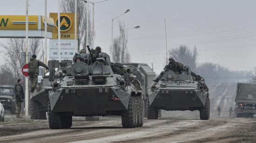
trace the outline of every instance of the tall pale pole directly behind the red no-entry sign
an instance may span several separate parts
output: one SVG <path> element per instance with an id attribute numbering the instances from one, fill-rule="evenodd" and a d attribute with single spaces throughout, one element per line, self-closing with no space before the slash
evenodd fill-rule
<path id="1" fill-rule="evenodd" d="M 26 0 L 26 39 L 25 39 L 25 47 L 26 47 L 26 63 L 28 63 L 28 0 Z M 26 78 L 25 85 L 25 116 L 28 120 L 28 78 Z"/>

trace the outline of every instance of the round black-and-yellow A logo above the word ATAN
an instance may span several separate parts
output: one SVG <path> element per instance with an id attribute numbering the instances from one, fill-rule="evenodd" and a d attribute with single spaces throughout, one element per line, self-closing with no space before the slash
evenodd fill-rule
<path id="1" fill-rule="evenodd" d="M 60 16 L 60 25 L 61 25 L 61 32 L 66 32 L 72 27 L 72 20 L 67 15 Z M 58 19 L 56 19 L 56 27 L 58 29 Z"/>

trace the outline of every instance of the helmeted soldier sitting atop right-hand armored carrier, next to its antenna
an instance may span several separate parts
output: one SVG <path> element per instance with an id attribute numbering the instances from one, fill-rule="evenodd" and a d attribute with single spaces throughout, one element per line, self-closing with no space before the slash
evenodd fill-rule
<path id="1" fill-rule="evenodd" d="M 157 78 L 155 78 L 153 81 L 158 82 L 162 78 L 165 71 L 172 70 L 176 73 L 180 73 L 182 69 L 183 69 L 183 65 L 181 63 L 175 62 L 173 58 L 169 58 L 169 64 L 164 67 L 164 71 L 162 71 L 160 75 Z"/>

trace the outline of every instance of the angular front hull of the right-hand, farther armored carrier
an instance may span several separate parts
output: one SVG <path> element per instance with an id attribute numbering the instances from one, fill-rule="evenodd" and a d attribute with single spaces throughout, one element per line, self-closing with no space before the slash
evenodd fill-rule
<path id="1" fill-rule="evenodd" d="M 188 83 L 191 82 L 191 83 Z M 205 105 L 207 94 L 197 89 L 194 81 L 168 81 L 166 87 L 152 91 L 150 106 L 163 110 L 199 110 Z"/>

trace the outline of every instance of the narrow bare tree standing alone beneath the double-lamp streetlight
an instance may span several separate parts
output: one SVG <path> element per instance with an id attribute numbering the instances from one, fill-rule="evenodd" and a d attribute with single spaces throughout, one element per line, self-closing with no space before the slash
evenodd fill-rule
<path id="1" fill-rule="evenodd" d="M 128 52 L 128 34 L 125 31 L 124 23 L 119 21 L 119 37 L 114 39 L 113 45 L 113 61 L 114 62 L 121 62 L 121 63 L 128 63 L 130 62 L 130 54 Z"/>

